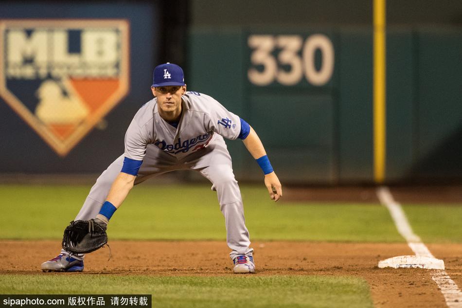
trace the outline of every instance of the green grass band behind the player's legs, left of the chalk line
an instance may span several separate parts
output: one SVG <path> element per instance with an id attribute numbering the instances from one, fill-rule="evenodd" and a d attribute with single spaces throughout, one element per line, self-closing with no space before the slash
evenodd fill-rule
<path id="1" fill-rule="evenodd" d="M 60 239 L 89 186 L 0 186 L 7 210 L 0 238 Z M 402 242 L 377 204 L 274 203 L 266 187 L 242 187 L 251 240 Z M 111 239 L 224 240 L 224 218 L 210 185 L 140 185 L 109 225 Z"/>

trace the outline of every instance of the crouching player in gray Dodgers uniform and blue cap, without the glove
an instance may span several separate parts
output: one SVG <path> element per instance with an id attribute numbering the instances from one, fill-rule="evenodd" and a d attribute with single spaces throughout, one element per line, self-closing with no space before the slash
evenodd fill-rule
<path id="1" fill-rule="evenodd" d="M 183 70 L 165 63 L 154 69 L 154 99 L 135 114 L 125 134 L 124 154 L 101 174 L 75 220 L 95 218 L 106 228 L 133 185 L 174 170 L 193 170 L 212 182 L 225 217 L 227 243 L 235 273 L 253 273 L 253 249 L 244 222 L 244 207 L 223 139 L 241 139 L 265 174 L 274 201 L 282 197 L 281 183 L 265 148 L 252 127 L 212 97 L 186 91 Z M 83 254 L 62 250 L 42 263 L 44 272 L 81 272 Z"/>

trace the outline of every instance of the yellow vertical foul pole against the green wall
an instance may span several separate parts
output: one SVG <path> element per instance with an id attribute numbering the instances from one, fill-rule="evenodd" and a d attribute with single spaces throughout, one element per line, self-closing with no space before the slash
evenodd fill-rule
<path id="1" fill-rule="evenodd" d="M 374 126 L 374 181 L 385 180 L 386 162 L 386 0 L 373 0 L 374 11 L 374 68 L 373 68 L 373 126 Z"/>

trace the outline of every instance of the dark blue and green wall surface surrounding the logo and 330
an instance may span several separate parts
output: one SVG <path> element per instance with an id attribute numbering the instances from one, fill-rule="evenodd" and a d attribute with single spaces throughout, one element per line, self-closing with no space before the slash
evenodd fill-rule
<path id="1" fill-rule="evenodd" d="M 126 127 L 139 107 L 152 98 L 149 89 L 152 69 L 159 63 L 173 62 L 185 68 L 190 90 L 212 94 L 228 109 L 253 121 L 250 124 L 259 129 L 257 132 L 267 145 L 270 158 L 274 156 L 273 165 L 279 167 L 284 181 L 372 182 L 372 3 L 372 0 L 1 2 L 0 19 L 128 19 L 131 84 L 127 96 L 104 119 L 107 127 L 95 127 L 65 157 L 59 157 L 0 99 L 0 172 L 6 175 L 101 172 L 123 153 Z M 387 26 L 387 181 L 461 181 L 462 50 L 458 49 L 458 42 L 462 34 L 462 1 L 389 0 Z M 336 46 L 336 61 L 339 61 L 336 79 L 328 91 L 249 87 L 246 81 L 249 34 L 316 32 L 329 34 Z M 433 61 L 432 57 L 439 55 L 441 59 Z M 426 65 L 427 62 L 435 64 Z M 451 69 L 453 72 L 447 74 Z M 345 100 L 344 93 L 351 97 Z M 283 117 L 279 124 L 283 128 L 276 134 L 285 129 L 284 133 L 274 135 L 273 130 L 264 126 L 271 117 L 264 110 L 265 95 L 292 94 L 301 99 L 302 109 L 294 113 L 295 118 Z M 312 99 L 313 95 L 317 98 Z M 318 102 L 322 110 L 325 103 L 319 100 L 319 95 L 328 95 L 331 104 L 326 119 L 332 122 L 328 127 L 332 136 L 326 137 L 330 138 L 327 144 L 322 140 L 321 144 L 312 141 L 326 133 L 322 125 L 327 120 L 322 120 L 322 114 L 314 115 L 324 122 L 320 125 L 315 119 L 311 126 L 308 123 L 307 127 L 291 127 L 294 122 L 302 125 L 303 112 L 312 110 L 303 105 L 303 99 L 310 104 Z M 270 104 L 274 104 L 271 108 L 279 108 L 282 103 L 275 99 Z M 291 144 L 278 146 L 284 140 L 291 143 L 292 139 L 286 136 L 295 131 L 308 136 L 301 151 L 309 155 L 292 150 Z M 236 175 L 243 180 L 259 178 L 258 167 L 237 143 L 228 143 Z M 255 176 L 249 176 L 248 170 Z M 296 170 L 302 171 L 294 177 Z"/>

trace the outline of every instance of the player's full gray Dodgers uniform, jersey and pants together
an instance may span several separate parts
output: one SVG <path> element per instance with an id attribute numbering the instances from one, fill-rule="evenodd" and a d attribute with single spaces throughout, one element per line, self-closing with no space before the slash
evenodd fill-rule
<path id="1" fill-rule="evenodd" d="M 101 174 L 75 219 L 87 220 L 98 214 L 122 170 L 124 157 L 142 161 L 135 185 L 166 172 L 193 170 L 211 181 L 217 193 L 231 259 L 243 254 L 251 256 L 242 197 L 223 140 L 238 138 L 240 118 L 202 93 L 188 91 L 182 99 L 177 128 L 160 117 L 156 98 L 141 107 L 126 131 L 124 154 Z"/>

